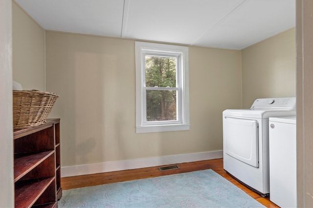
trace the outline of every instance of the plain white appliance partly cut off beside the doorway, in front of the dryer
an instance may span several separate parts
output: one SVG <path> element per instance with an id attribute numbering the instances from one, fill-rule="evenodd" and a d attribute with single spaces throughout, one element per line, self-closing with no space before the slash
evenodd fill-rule
<path id="1" fill-rule="evenodd" d="M 269 118 L 270 201 L 297 207 L 296 117 Z"/>

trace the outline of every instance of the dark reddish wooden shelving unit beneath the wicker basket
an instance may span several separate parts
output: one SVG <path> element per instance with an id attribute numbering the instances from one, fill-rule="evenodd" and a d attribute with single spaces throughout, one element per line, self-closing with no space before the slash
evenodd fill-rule
<path id="1" fill-rule="evenodd" d="M 16 130 L 13 139 L 15 207 L 57 207 L 62 197 L 60 119 Z"/>

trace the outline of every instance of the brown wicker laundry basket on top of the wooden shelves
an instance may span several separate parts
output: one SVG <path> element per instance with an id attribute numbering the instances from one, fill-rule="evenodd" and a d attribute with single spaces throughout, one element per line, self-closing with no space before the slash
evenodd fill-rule
<path id="1" fill-rule="evenodd" d="M 37 90 L 13 90 L 13 129 L 45 124 L 59 95 Z"/>

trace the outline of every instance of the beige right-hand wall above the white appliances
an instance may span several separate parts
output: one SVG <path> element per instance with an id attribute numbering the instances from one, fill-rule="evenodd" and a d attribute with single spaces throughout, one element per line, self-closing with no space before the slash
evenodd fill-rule
<path id="1" fill-rule="evenodd" d="M 295 96 L 295 28 L 242 50 L 243 108 L 257 98 Z"/>

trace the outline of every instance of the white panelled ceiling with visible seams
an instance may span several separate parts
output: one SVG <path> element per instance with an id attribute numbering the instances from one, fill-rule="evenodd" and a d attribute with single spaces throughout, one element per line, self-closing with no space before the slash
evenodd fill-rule
<path id="1" fill-rule="evenodd" d="M 45 30 L 243 49 L 295 27 L 295 0 L 15 0 Z"/>

